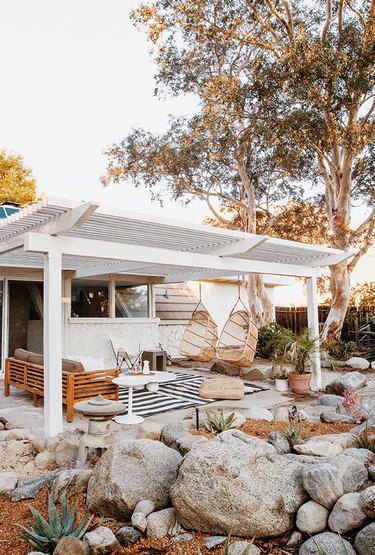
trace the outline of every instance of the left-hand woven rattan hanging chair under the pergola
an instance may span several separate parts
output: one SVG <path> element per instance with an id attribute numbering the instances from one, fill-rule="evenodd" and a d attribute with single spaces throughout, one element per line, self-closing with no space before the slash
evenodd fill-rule
<path id="1" fill-rule="evenodd" d="M 192 360 L 209 362 L 215 355 L 217 339 L 217 326 L 199 301 L 186 326 L 178 352 Z"/>

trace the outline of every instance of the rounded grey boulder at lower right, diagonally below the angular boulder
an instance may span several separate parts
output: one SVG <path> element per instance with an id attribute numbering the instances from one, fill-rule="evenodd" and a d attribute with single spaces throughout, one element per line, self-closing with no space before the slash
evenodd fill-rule
<path id="1" fill-rule="evenodd" d="M 346 493 L 333 507 L 328 525 L 333 532 L 345 534 L 364 526 L 369 517 L 361 508 L 359 493 Z"/>

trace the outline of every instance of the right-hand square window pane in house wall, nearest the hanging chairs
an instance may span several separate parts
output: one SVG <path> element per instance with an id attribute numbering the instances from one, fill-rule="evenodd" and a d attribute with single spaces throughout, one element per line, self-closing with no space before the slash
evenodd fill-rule
<path id="1" fill-rule="evenodd" d="M 116 318 L 148 318 L 148 287 L 116 282 Z"/>

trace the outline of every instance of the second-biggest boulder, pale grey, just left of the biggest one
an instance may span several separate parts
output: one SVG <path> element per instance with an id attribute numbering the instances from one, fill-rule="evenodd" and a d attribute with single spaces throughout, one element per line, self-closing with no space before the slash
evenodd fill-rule
<path id="1" fill-rule="evenodd" d="M 164 509 L 181 460 L 177 451 L 151 439 L 115 443 L 101 457 L 89 480 L 88 508 L 119 520 L 129 520 L 143 499 Z"/>

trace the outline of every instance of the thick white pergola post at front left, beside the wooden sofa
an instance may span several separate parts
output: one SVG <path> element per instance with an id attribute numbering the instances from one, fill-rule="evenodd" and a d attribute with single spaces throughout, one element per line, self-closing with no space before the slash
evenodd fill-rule
<path id="1" fill-rule="evenodd" d="M 61 252 L 44 255 L 44 434 L 63 431 Z"/>

